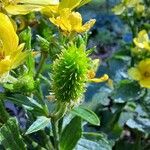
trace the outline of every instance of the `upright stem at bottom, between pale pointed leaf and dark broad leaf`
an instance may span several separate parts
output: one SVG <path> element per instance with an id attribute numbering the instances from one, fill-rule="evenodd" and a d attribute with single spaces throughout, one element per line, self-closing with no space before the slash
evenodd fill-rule
<path id="1" fill-rule="evenodd" d="M 56 150 L 59 150 L 58 122 L 52 119 L 51 123 L 52 123 L 52 131 L 54 136 L 54 146 Z"/>

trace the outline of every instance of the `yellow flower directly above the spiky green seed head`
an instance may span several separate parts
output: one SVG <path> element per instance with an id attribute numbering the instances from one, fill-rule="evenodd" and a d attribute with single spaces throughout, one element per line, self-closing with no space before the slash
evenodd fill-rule
<path id="1" fill-rule="evenodd" d="M 77 0 L 70 2 L 62 0 L 59 5 L 55 7 L 55 13 L 50 17 L 50 21 L 58 26 L 64 34 L 82 33 L 88 31 L 95 23 L 95 19 L 82 25 L 82 16 L 74 9 L 89 2 L 89 0 Z M 50 7 L 48 7 L 50 8 Z M 47 8 L 44 10 L 46 11 Z M 51 10 L 51 9 L 49 9 Z M 52 9 L 54 10 L 54 9 Z"/>

